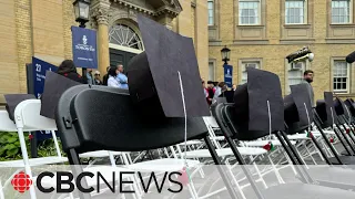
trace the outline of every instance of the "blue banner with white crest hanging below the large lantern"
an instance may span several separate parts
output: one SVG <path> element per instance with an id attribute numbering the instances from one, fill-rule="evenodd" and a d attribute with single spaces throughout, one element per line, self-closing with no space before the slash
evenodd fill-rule
<path id="1" fill-rule="evenodd" d="M 75 66 L 98 69 L 97 31 L 71 27 Z"/>

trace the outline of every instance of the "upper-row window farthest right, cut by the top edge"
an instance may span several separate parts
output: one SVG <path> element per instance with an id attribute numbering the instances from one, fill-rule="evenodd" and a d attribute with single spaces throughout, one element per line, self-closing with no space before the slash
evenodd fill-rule
<path id="1" fill-rule="evenodd" d="M 351 0 L 332 0 L 332 23 L 351 23 Z"/>

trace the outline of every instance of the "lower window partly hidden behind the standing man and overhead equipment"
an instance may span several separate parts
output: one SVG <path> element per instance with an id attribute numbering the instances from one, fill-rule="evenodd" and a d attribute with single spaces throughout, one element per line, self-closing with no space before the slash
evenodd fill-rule
<path id="1" fill-rule="evenodd" d="M 286 92 L 291 93 L 291 85 L 301 84 L 303 81 L 303 73 L 306 70 L 306 61 L 298 62 L 298 63 L 291 63 L 288 64 L 288 71 L 287 71 L 287 86 Z"/>

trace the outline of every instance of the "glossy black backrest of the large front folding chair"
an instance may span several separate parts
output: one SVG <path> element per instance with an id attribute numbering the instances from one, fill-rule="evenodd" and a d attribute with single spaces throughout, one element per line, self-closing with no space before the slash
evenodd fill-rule
<path id="1" fill-rule="evenodd" d="M 101 86 L 103 87 L 103 86 Z M 58 128 L 63 149 L 77 153 L 92 150 L 135 151 L 162 148 L 184 140 L 184 118 L 146 117 L 128 94 L 90 88 L 78 93 L 68 105 L 57 107 Z M 65 92 L 61 98 L 68 98 Z M 72 95 L 72 94 L 69 94 Z M 90 107 L 90 108 L 89 108 Z M 187 139 L 207 135 L 202 117 L 187 118 Z"/>

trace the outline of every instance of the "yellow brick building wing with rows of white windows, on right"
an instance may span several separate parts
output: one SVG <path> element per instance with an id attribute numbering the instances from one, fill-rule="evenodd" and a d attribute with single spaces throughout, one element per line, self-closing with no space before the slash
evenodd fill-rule
<path id="1" fill-rule="evenodd" d="M 345 56 L 355 51 L 354 0 L 207 0 L 209 78 L 223 81 L 221 49 L 231 49 L 233 83 L 246 81 L 245 67 L 276 73 L 283 94 L 315 72 L 315 98 L 324 91 L 355 94 L 355 69 Z M 313 62 L 290 65 L 285 56 L 308 45 Z"/>

